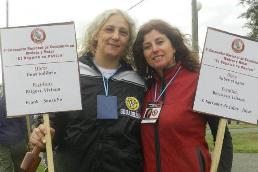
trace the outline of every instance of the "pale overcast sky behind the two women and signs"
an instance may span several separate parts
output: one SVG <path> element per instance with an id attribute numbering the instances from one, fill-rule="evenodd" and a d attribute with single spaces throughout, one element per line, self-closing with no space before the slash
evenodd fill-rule
<path id="1" fill-rule="evenodd" d="M 8 0 L 9 27 L 74 21 L 78 37 L 83 34 L 85 26 L 105 9 L 120 8 L 126 11 L 140 1 Z M 246 20 L 237 18 L 247 9 L 238 5 L 238 0 L 200 0 L 200 3 L 202 4 L 198 12 L 200 51 L 204 46 L 208 26 L 241 36 L 250 32 L 249 29 L 242 27 Z M 144 0 L 128 13 L 136 20 L 138 27 L 150 19 L 164 19 L 184 34 L 191 35 L 191 0 Z M 5 27 L 6 0 L 0 0 L 0 28 Z"/>

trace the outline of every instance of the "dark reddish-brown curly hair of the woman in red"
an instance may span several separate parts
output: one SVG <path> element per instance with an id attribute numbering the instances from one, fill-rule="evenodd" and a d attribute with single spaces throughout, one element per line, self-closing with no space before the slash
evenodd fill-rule
<path id="1" fill-rule="evenodd" d="M 171 42 L 171 45 L 176 49 L 176 62 L 181 61 L 182 65 L 189 71 L 199 71 L 200 60 L 197 53 L 191 50 L 191 45 L 189 42 L 190 39 L 186 38 L 187 35 L 181 34 L 177 28 L 172 27 L 165 21 L 154 19 L 140 27 L 133 45 L 134 62 L 137 73 L 140 76 L 148 80 L 150 78 L 149 76 L 152 75 L 151 73 L 154 70 L 147 64 L 144 58 L 142 46 L 144 42 L 144 35 L 148 34 L 152 30 L 157 30 L 161 34 L 165 34 L 167 36 Z"/>

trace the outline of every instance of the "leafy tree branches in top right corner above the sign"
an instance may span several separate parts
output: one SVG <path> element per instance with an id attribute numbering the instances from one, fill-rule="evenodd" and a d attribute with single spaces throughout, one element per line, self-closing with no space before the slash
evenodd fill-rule
<path id="1" fill-rule="evenodd" d="M 243 27 L 247 27 L 252 31 L 247 33 L 247 37 L 258 40 L 258 0 L 239 0 L 239 4 L 249 8 L 246 12 L 239 15 L 238 18 L 246 18 L 247 22 Z"/>

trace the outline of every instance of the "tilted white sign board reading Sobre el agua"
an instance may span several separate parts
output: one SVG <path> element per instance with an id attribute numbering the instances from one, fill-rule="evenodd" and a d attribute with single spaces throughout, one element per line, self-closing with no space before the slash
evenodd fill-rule
<path id="1" fill-rule="evenodd" d="M 258 42 L 208 28 L 193 111 L 257 124 Z"/>

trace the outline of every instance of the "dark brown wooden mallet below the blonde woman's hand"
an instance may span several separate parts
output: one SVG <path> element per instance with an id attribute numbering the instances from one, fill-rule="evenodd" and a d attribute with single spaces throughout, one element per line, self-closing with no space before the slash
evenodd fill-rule
<path id="1" fill-rule="evenodd" d="M 40 154 L 41 148 L 35 146 L 32 153 L 27 152 L 21 163 L 21 169 L 28 172 L 35 172 L 40 164 L 41 158 L 38 156 Z"/>

